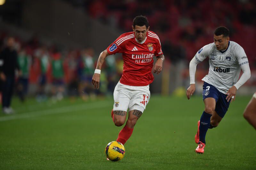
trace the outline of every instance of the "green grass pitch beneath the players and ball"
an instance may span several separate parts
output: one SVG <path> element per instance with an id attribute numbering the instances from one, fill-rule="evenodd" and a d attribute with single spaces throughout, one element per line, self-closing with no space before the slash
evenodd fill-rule
<path id="1" fill-rule="evenodd" d="M 151 96 L 118 162 L 104 153 L 122 128 L 110 117 L 112 98 L 14 99 L 16 114 L 0 116 L 0 169 L 256 169 L 256 131 L 243 118 L 250 99 L 236 97 L 219 127 L 208 130 L 201 155 L 194 136 L 202 97 Z"/>

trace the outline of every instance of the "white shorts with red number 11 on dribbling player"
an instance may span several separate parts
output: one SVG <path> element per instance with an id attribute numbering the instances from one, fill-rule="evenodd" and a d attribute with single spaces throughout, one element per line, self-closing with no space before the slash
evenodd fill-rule
<path id="1" fill-rule="evenodd" d="M 114 90 L 114 108 L 127 112 L 129 110 L 139 110 L 143 113 L 149 102 L 150 91 L 147 86 L 128 86 L 120 82 Z"/>

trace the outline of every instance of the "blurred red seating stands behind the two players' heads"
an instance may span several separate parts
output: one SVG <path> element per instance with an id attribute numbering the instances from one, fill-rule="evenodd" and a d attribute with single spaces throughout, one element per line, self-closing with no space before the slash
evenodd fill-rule
<path id="1" fill-rule="evenodd" d="M 230 41 L 245 50 L 251 68 L 256 68 L 256 1 L 253 0 L 77 0 L 88 14 L 101 22 L 132 30 L 137 15 L 148 18 L 150 30 L 161 40 L 162 50 L 172 62 L 194 57 L 196 50 L 213 42 L 216 27 L 230 30 Z M 75 3 L 73 1 L 73 3 Z M 200 67 L 200 66 L 199 66 Z"/>

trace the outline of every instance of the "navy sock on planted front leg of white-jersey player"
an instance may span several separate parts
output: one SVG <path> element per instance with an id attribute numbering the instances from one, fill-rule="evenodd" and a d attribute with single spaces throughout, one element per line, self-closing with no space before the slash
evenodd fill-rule
<path id="1" fill-rule="evenodd" d="M 211 114 L 203 112 L 201 119 L 200 119 L 200 126 L 199 126 L 199 141 L 203 142 L 205 144 L 205 135 L 208 130 L 208 128 L 211 125 Z"/>

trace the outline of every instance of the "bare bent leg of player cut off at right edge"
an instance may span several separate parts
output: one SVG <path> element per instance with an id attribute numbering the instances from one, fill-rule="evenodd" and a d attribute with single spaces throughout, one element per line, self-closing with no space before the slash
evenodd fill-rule
<path id="1" fill-rule="evenodd" d="M 256 129 L 256 92 L 244 110 L 244 118 Z"/>

